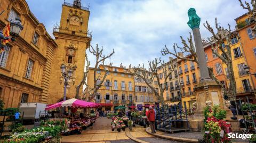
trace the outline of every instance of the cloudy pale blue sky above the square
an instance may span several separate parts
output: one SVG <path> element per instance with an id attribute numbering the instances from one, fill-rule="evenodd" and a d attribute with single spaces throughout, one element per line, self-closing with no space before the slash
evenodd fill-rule
<path id="1" fill-rule="evenodd" d="M 27 3 L 52 36 L 53 24 L 60 22 L 63 0 L 27 0 Z M 172 49 L 173 43 L 180 44 L 180 36 L 188 36 L 190 7 L 201 17 L 201 35 L 205 38 L 210 36 L 203 27 L 206 20 L 213 25 L 217 17 L 221 26 L 227 28 L 230 23 L 235 29 L 234 19 L 246 12 L 238 0 L 82 0 L 83 6 L 88 4 L 92 46 L 103 46 L 106 54 L 114 48 L 115 54 L 106 63 L 111 61 L 115 66 L 123 63 L 126 67 L 130 63 L 147 63 L 155 57 L 167 61 L 168 56 L 162 56 L 160 51 L 165 44 Z M 93 64 L 93 56 L 89 58 Z"/>

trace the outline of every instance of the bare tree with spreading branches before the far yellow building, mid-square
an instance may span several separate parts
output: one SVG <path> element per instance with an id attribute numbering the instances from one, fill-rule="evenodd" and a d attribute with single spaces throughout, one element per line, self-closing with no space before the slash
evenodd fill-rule
<path id="1" fill-rule="evenodd" d="M 135 77 L 141 78 L 143 81 L 145 81 L 147 86 L 154 92 L 159 102 L 164 104 L 163 95 L 166 89 L 167 78 L 169 78 L 170 74 L 174 71 L 173 63 L 171 63 L 171 67 L 169 68 L 168 65 L 161 60 L 161 58 L 155 58 L 153 61 L 148 61 L 148 65 L 150 71 L 147 71 L 144 64 L 142 64 L 142 66 L 134 66 L 134 68 L 130 69 L 130 72 Z M 159 77 L 158 73 L 160 69 L 163 70 L 163 84 L 160 82 L 161 78 Z M 159 87 L 159 92 L 157 88 L 154 88 L 155 81 L 157 82 L 156 86 Z"/>

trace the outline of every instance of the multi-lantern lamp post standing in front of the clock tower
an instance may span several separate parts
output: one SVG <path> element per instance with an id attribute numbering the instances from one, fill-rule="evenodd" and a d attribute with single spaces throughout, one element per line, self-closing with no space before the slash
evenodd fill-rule
<path id="1" fill-rule="evenodd" d="M 66 100 L 66 92 L 67 92 L 67 85 L 69 79 L 73 76 L 73 69 L 72 68 L 67 68 L 65 64 L 61 64 L 60 66 L 62 77 L 64 79 L 64 97 L 63 101 Z"/>

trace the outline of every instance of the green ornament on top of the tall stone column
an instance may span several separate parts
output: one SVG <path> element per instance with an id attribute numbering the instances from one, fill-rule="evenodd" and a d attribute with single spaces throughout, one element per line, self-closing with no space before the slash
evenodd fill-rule
<path id="1" fill-rule="evenodd" d="M 194 28 L 199 28 L 201 18 L 196 14 L 196 10 L 194 8 L 190 8 L 188 10 L 188 18 L 189 21 L 187 23 L 192 30 Z"/>

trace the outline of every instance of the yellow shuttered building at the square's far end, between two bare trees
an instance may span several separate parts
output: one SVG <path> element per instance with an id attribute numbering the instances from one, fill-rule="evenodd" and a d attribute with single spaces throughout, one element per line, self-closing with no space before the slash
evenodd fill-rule
<path id="1" fill-rule="evenodd" d="M 114 107 L 124 105 L 126 107 L 142 105 L 153 105 L 156 97 L 141 79 L 134 77 L 130 69 L 117 66 L 106 66 L 109 71 L 102 86 L 97 91 L 94 102 L 101 104 L 102 111 L 113 111 Z M 90 68 L 87 85 L 90 88 L 94 86 L 94 69 Z M 104 66 L 100 65 L 97 69 L 96 77 L 101 80 L 105 75 Z"/>

